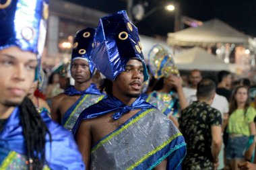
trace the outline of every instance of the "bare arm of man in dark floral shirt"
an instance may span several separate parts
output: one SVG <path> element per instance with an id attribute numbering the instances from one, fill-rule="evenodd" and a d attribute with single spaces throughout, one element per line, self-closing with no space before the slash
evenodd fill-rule
<path id="1" fill-rule="evenodd" d="M 218 155 L 222 147 L 222 128 L 221 126 L 211 126 L 212 131 L 212 157 L 214 163 L 218 163 Z"/>

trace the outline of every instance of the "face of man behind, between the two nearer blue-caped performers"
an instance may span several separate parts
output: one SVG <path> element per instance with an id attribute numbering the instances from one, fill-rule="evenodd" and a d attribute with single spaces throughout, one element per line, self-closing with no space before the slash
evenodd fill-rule
<path id="1" fill-rule="evenodd" d="M 75 83 L 85 83 L 90 80 L 90 70 L 88 61 L 75 59 L 71 63 L 71 76 Z"/>

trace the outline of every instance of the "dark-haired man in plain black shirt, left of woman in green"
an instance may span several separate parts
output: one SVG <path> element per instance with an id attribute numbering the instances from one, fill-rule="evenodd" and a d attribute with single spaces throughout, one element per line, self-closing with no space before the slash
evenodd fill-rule
<path id="1" fill-rule="evenodd" d="M 232 83 L 232 75 L 230 72 L 220 71 L 218 73 L 218 86 L 216 89 L 216 93 L 218 95 L 223 95 L 224 97 L 226 97 L 228 101 L 230 101 L 230 96 L 231 96 L 231 91 L 229 89 L 231 87 L 231 83 Z"/>

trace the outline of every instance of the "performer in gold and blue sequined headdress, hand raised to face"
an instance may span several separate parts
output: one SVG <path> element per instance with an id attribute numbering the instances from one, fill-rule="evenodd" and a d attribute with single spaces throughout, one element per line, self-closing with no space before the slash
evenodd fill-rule
<path id="1" fill-rule="evenodd" d="M 156 79 L 159 79 L 150 94 L 160 99 L 165 104 L 164 114 L 178 124 L 179 111 L 187 107 L 187 101 L 183 93 L 182 79 L 177 67 L 174 65 L 172 54 L 164 47 L 157 44 L 149 52 L 149 66 Z M 160 85 L 161 84 L 161 85 Z M 177 90 L 177 93 L 173 91 Z M 173 119 L 174 118 L 176 119 Z"/>

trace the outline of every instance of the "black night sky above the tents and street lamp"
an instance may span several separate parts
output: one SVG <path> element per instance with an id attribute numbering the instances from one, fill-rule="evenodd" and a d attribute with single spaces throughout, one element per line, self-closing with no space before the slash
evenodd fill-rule
<path id="1" fill-rule="evenodd" d="M 127 9 L 125 0 L 68 0 L 73 3 L 113 13 L 121 9 Z M 146 0 L 133 0 L 133 4 Z M 156 6 L 164 6 L 175 1 L 148 0 L 146 12 Z M 199 19 L 205 22 L 218 18 L 236 30 L 250 36 L 256 36 L 256 0 L 180 0 L 181 15 Z M 152 15 L 143 19 L 137 25 L 139 34 L 146 36 L 166 36 L 173 32 L 174 13 L 164 8 L 157 10 Z M 186 28 L 187 26 L 185 26 Z"/>

